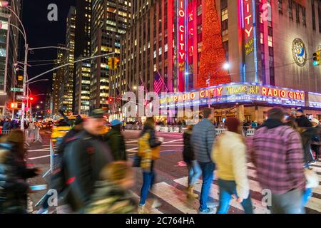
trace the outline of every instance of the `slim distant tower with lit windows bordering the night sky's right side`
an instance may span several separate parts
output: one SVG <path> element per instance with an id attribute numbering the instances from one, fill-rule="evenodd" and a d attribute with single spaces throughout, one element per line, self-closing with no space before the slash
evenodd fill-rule
<path id="1" fill-rule="evenodd" d="M 60 108 L 66 113 L 73 112 L 73 66 L 75 61 L 76 8 L 71 6 L 66 20 L 66 63 L 65 75 L 61 85 Z"/>

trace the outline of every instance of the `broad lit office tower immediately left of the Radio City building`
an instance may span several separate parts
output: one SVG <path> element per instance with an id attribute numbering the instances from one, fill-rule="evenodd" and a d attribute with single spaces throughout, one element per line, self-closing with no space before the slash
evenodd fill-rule
<path id="1" fill-rule="evenodd" d="M 114 53 L 118 57 L 121 35 L 128 28 L 131 19 L 131 1 L 92 0 L 91 14 L 91 56 Z M 91 61 L 91 108 L 108 108 L 112 71 L 108 69 L 108 58 L 101 56 Z"/>

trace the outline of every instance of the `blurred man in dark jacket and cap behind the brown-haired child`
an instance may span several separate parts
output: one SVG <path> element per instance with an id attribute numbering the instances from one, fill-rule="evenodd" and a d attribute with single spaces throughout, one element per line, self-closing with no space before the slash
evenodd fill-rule
<path id="1" fill-rule="evenodd" d="M 113 161 L 111 150 L 103 142 L 104 111 L 96 109 L 83 122 L 83 130 L 69 142 L 63 152 L 63 170 L 67 187 L 66 203 L 73 212 L 83 212 L 94 191 L 103 167 Z M 63 195 L 62 194 L 62 195 Z"/>

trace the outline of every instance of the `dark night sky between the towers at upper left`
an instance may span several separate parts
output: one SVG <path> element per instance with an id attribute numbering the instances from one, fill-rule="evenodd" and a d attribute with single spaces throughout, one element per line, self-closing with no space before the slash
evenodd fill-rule
<path id="1" fill-rule="evenodd" d="M 58 43 L 66 42 L 66 18 L 70 6 L 75 6 L 76 1 L 82 0 L 23 0 L 22 23 L 26 28 L 27 42 L 30 48 L 42 46 L 57 46 Z M 48 5 L 58 6 L 58 21 L 49 21 Z M 31 62 L 39 60 L 56 59 L 57 49 L 42 49 L 29 53 L 29 64 L 39 65 L 53 62 Z M 21 36 L 20 61 L 24 61 L 24 41 Z M 28 68 L 29 78 L 54 68 L 54 65 L 32 66 Z M 21 72 L 22 73 L 22 72 Z M 39 79 L 49 78 L 50 81 L 34 83 L 30 86 L 34 95 L 46 93 L 51 89 L 52 73 L 41 76 Z M 44 96 L 41 97 L 44 99 Z"/>

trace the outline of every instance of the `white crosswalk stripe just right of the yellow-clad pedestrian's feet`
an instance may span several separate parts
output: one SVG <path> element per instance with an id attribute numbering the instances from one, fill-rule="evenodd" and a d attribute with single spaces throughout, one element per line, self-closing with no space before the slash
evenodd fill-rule
<path id="1" fill-rule="evenodd" d="M 168 185 L 165 182 L 160 182 L 154 185 L 151 192 L 153 195 L 160 197 L 165 202 L 180 210 L 180 212 L 183 212 L 184 214 L 198 213 L 197 209 L 188 207 L 186 204 L 186 195 L 172 185 Z"/>

